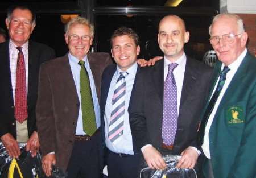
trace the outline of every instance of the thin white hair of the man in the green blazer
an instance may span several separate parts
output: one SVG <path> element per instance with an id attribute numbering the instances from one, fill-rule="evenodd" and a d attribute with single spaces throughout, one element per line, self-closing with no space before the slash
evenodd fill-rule
<path id="1" fill-rule="evenodd" d="M 238 33 L 241 34 L 242 32 L 245 32 L 245 27 L 243 25 L 243 20 L 240 18 L 240 16 L 238 16 L 236 14 L 232 14 L 232 13 L 224 13 L 224 14 L 218 14 L 218 15 L 214 16 L 214 18 L 212 20 L 212 24 L 214 22 L 216 22 L 222 16 L 225 16 L 225 17 L 230 18 L 230 19 L 235 19 L 236 22 L 237 22 Z M 209 34 L 210 35 L 212 35 L 212 24 L 210 24 L 210 27 L 209 27 Z"/>

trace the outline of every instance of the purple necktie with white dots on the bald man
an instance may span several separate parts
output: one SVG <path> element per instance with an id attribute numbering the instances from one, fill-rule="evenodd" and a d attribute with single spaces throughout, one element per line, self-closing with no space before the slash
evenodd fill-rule
<path id="1" fill-rule="evenodd" d="M 167 146 L 174 144 L 177 130 L 177 86 L 174 78 L 174 69 L 178 64 L 168 64 L 168 74 L 164 82 L 163 101 L 163 143 Z"/>

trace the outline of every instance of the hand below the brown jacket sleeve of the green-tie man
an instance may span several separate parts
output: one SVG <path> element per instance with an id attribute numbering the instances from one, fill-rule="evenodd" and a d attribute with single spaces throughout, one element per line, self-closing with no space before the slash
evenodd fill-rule
<path id="1" fill-rule="evenodd" d="M 43 156 L 42 167 L 47 177 L 52 175 L 53 164 L 56 164 L 55 154 L 47 154 Z"/>

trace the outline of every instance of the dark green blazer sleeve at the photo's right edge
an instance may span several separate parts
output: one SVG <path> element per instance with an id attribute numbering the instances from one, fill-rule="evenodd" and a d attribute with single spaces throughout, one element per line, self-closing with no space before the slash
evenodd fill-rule
<path id="1" fill-rule="evenodd" d="M 242 135 L 240 148 L 238 149 L 234 164 L 232 165 L 228 178 L 254 177 L 256 175 L 256 84 L 253 93 L 247 102 L 245 129 Z M 225 148 L 224 148 L 225 149 Z"/>

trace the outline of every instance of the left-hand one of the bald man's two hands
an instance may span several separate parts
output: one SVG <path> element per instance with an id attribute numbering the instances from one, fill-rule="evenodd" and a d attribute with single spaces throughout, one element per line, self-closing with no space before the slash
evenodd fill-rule
<path id="1" fill-rule="evenodd" d="M 152 146 L 146 147 L 146 148 L 144 148 L 142 153 L 143 153 L 144 159 L 146 160 L 148 167 L 150 167 L 151 169 L 166 168 L 166 163 L 164 163 L 162 155 L 154 147 L 152 147 Z"/>

